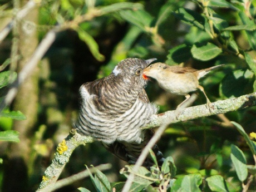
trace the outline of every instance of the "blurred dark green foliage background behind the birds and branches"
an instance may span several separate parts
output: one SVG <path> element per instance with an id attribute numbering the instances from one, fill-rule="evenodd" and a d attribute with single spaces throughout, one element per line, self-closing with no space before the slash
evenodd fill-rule
<path id="1" fill-rule="evenodd" d="M 26 2 L 0 1 L 1 29 L 12 18 L 12 13 Z M 204 2 L 208 1 L 48 0 L 42 1 L 24 21 L 19 21 L 0 44 L 0 63 L 11 57 L 11 64 L 5 71 L 18 72 L 22 68 L 21 62 L 26 63 L 26 57 L 29 57 L 22 52 L 35 51 L 33 47 L 51 28 L 64 26 L 74 18 L 92 13 L 93 8 L 105 8 L 106 12 L 99 16 L 89 14 L 92 17 L 87 21 L 75 23 L 75 27 L 70 26 L 57 33 L 55 42 L 38 63 L 31 81 L 23 86 L 16 100 L 6 109 L 21 111 L 27 120 L 0 117 L 0 130 L 17 130 L 21 140 L 17 143 L 0 141 L 2 191 L 37 189 L 45 169 L 51 164 L 57 144 L 68 135 L 76 120 L 78 88 L 82 83 L 109 75 L 124 58 L 157 58 L 157 62 L 181 63 L 181 66 L 198 69 L 225 63 L 227 65 L 222 70 L 213 71 L 200 80 L 209 99 L 213 102 L 254 92 L 255 28 L 224 28 L 255 25 L 255 1 L 223 0 L 219 5 L 214 4 L 218 1 L 211 1 L 209 10 L 202 6 Z M 228 4 L 221 4 L 223 2 Z M 250 2 L 249 7 L 245 6 L 246 2 Z M 136 4 L 132 5 L 134 8 L 125 9 L 122 6 L 108 7 L 114 3 Z M 129 6 L 132 7 L 131 4 Z M 206 13 L 211 15 L 206 17 Z M 30 19 L 27 23 L 36 28 L 35 35 L 23 36 L 22 26 Z M 214 23 L 213 30 L 209 23 Z M 20 50 L 17 54 L 13 51 L 16 41 Z M 204 58 L 204 53 L 200 53 L 207 43 L 213 44 L 219 52 Z M 15 66 L 13 63 L 17 56 L 21 57 Z M 4 96 L 7 88 L 0 91 Z M 183 96 L 165 92 L 154 80 L 149 82 L 146 92 L 150 101 L 160 106 L 159 112 L 174 110 L 184 100 Z M 205 97 L 199 91 L 194 105 L 205 103 Z M 254 161 L 244 138 L 229 121 L 241 124 L 248 134 L 256 132 L 255 110 L 256 107 L 250 107 L 225 116 L 214 115 L 170 125 L 158 143 L 159 148 L 165 156 L 173 156 L 178 175 L 197 171 L 204 175 L 205 169 L 214 169 L 225 179 L 233 178 L 233 191 L 240 191 L 241 185 L 230 160 L 230 144 L 243 150 L 248 164 L 254 164 Z M 111 170 L 104 172 L 109 181 L 125 180 L 119 170 L 126 163 L 107 152 L 99 142 L 78 147 L 61 178 L 84 170 L 85 164 L 96 166 L 104 163 L 113 165 Z M 78 191 L 80 186 L 95 191 L 90 179 L 57 191 Z M 256 184 L 250 188 L 256 190 Z"/>

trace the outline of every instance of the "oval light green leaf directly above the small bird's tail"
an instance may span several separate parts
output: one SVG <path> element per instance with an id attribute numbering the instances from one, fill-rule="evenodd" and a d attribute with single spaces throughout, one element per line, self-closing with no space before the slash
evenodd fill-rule
<path id="1" fill-rule="evenodd" d="M 221 48 L 209 42 L 204 46 L 193 45 L 191 48 L 193 57 L 201 61 L 209 61 L 218 56 L 221 52 Z"/>

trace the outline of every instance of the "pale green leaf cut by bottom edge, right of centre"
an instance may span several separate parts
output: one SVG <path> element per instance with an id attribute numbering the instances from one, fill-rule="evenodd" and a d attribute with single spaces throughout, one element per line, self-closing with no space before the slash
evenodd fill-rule
<path id="1" fill-rule="evenodd" d="M 206 178 L 205 180 L 207 181 L 210 190 L 216 192 L 228 192 L 228 190 L 225 187 L 225 180 L 222 176 L 213 175 L 210 176 L 209 178 Z"/>

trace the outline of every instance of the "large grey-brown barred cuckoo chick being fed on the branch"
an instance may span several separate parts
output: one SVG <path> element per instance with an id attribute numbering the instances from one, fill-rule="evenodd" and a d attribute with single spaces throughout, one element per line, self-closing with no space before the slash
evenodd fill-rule
<path id="1" fill-rule="evenodd" d="M 101 141 L 109 151 L 129 163 L 135 163 L 152 135 L 150 130 L 140 127 L 157 112 L 157 107 L 147 98 L 146 80 L 142 78 L 142 71 L 154 60 L 127 58 L 109 76 L 80 87 L 77 131 Z"/>

